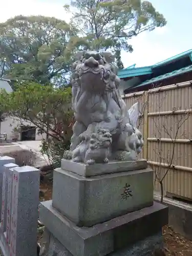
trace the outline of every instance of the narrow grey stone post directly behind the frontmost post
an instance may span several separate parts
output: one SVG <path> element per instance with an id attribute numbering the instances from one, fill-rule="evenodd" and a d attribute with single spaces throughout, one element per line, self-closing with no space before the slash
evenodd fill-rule
<path id="1" fill-rule="evenodd" d="M 3 172 L 3 189 L 2 189 L 2 218 L 1 218 L 1 226 L 3 232 L 7 229 L 7 200 L 8 200 L 8 180 L 9 180 L 9 170 L 10 168 L 18 166 L 15 163 L 8 163 L 4 165 Z"/>

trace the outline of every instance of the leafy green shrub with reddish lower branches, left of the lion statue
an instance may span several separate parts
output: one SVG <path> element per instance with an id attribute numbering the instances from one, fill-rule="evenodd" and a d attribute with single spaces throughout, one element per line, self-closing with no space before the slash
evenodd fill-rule
<path id="1" fill-rule="evenodd" d="M 72 136 L 71 88 L 41 86 L 35 82 L 19 84 L 13 93 L 0 94 L 0 113 L 33 123 L 42 140 L 41 151 L 51 163 L 59 164 Z"/>

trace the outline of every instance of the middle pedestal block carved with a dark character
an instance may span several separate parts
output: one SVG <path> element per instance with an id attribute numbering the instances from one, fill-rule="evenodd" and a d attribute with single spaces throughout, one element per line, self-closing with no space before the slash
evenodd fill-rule
<path id="1" fill-rule="evenodd" d="M 93 226 L 153 204 L 153 170 L 90 178 L 58 168 L 53 174 L 53 207 L 78 226 Z"/>

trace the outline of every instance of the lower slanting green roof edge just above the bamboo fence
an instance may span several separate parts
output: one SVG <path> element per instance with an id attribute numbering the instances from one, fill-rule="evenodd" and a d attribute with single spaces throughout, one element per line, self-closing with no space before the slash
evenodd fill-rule
<path id="1" fill-rule="evenodd" d="M 161 80 L 164 80 L 164 79 L 167 79 L 167 78 L 170 78 L 170 77 L 174 77 L 174 76 L 177 76 L 177 75 L 181 75 L 181 74 L 184 74 L 184 73 L 187 73 L 187 72 L 190 72 L 190 71 L 192 71 L 192 65 L 187 66 L 187 67 L 182 68 L 182 69 L 174 70 L 173 72 L 169 72 L 169 73 L 166 73 L 166 74 L 161 75 L 161 76 L 154 77 L 150 80 L 146 80 L 146 81 L 140 83 L 138 86 L 136 86 L 134 88 L 145 86 L 145 84 L 158 82 L 158 81 L 161 81 Z"/>

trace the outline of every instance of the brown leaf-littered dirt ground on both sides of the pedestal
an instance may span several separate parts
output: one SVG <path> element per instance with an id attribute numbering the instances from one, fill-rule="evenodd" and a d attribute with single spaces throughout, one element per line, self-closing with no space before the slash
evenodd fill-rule
<path id="1" fill-rule="evenodd" d="M 52 199 L 52 182 L 43 182 L 40 189 L 44 195 L 40 201 Z M 192 231 L 191 231 L 192 232 Z M 166 256 L 192 256 L 192 241 L 185 239 L 179 233 L 173 231 L 172 227 L 163 227 L 164 255 Z M 163 256 L 163 254 L 161 254 Z"/>

